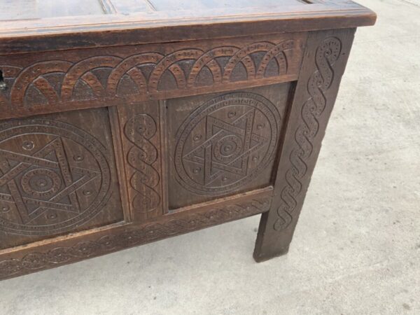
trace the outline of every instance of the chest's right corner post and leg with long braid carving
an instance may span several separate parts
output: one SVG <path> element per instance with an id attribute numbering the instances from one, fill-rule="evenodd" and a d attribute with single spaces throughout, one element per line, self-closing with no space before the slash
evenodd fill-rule
<path id="1" fill-rule="evenodd" d="M 272 209 L 262 215 L 254 258 L 288 251 L 325 128 L 353 42 L 354 29 L 309 35 L 274 183 Z"/>

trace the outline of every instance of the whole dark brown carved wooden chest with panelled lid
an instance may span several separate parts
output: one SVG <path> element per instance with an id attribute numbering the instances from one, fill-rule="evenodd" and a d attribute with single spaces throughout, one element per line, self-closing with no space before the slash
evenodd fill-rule
<path id="1" fill-rule="evenodd" d="M 288 251 L 351 1 L 0 0 L 0 279 L 262 214 Z"/>

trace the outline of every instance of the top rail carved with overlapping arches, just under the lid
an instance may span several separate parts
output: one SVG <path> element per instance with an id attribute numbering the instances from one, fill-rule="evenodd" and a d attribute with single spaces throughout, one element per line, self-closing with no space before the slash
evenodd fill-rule
<path id="1" fill-rule="evenodd" d="M 303 41 L 302 34 L 288 34 L 263 40 L 76 50 L 62 52 L 59 59 L 49 52 L 1 56 L 7 88 L 0 91 L 0 106 L 51 111 L 55 106 L 86 106 L 104 99 L 162 99 L 223 90 L 227 85 L 293 80 Z"/>

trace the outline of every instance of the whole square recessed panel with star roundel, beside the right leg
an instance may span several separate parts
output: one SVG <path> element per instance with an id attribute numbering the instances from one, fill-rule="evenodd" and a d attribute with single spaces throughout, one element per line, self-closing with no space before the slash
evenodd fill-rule
<path id="1" fill-rule="evenodd" d="M 167 101 L 169 209 L 269 186 L 289 88 Z"/>

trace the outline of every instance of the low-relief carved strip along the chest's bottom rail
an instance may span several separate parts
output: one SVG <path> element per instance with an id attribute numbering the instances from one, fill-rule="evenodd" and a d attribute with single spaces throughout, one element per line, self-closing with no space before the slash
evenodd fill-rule
<path id="1" fill-rule="evenodd" d="M 73 246 L 57 246 L 47 250 L 34 249 L 34 252 L 28 253 L 22 258 L 1 260 L 0 279 L 35 272 L 48 267 L 57 267 L 123 248 L 146 244 L 165 237 L 207 228 L 211 225 L 261 214 L 269 210 L 270 204 L 271 197 L 259 197 L 247 202 L 223 205 L 220 208 L 189 214 L 187 218 L 167 219 L 167 221 L 143 225 L 137 229 L 104 235 L 93 241 L 76 242 Z"/>

